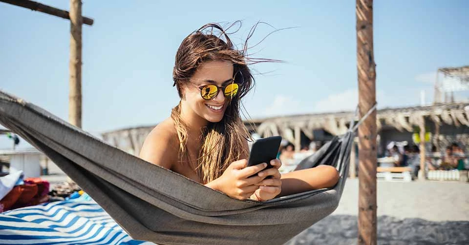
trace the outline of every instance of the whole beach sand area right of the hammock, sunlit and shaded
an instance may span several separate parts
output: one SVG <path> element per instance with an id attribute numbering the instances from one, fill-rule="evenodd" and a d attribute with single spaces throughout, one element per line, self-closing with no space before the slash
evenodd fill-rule
<path id="1" fill-rule="evenodd" d="M 469 244 L 469 183 L 378 181 L 378 244 Z M 347 180 L 334 213 L 288 245 L 355 245 L 358 180 Z"/>

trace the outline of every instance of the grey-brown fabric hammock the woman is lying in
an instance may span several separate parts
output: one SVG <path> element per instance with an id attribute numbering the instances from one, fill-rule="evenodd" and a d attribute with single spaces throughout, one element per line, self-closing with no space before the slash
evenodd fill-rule
<path id="1" fill-rule="evenodd" d="M 353 139 L 350 130 L 302 164 L 337 167 L 341 178 L 334 188 L 256 202 L 141 160 L 1 91 L 0 123 L 47 155 L 133 239 L 157 244 L 287 242 L 338 206 Z"/>

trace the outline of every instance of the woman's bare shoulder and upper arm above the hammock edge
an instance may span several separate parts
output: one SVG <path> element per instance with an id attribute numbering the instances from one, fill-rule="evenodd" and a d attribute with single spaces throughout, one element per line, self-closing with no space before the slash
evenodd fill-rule
<path id="1" fill-rule="evenodd" d="M 171 118 L 156 125 L 148 134 L 140 151 L 140 158 L 171 169 L 177 163 L 178 143 Z"/>

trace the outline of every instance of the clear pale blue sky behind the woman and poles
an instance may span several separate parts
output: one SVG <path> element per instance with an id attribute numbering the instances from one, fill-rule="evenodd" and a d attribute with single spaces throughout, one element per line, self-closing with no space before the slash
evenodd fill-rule
<path id="1" fill-rule="evenodd" d="M 41 0 L 69 9 L 69 1 Z M 138 3 L 137 3 L 138 2 Z M 83 128 L 98 135 L 153 125 L 179 102 L 172 87 L 181 41 L 209 22 L 242 20 L 255 70 L 244 100 L 251 118 L 353 110 L 358 102 L 355 1 L 83 0 Z M 469 65 L 469 1 L 374 1 L 378 108 L 433 102 L 439 67 Z M 68 118 L 69 21 L 0 2 L 0 89 Z M 468 100 L 469 93 L 456 93 Z M 21 143 L 20 147 L 27 144 Z M 0 148 L 11 142 L 0 136 Z"/>

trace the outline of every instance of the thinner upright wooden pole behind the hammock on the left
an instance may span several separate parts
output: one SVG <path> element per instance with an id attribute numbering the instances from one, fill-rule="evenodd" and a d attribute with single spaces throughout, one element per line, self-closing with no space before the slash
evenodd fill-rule
<path id="1" fill-rule="evenodd" d="M 82 1 L 70 0 L 68 121 L 82 127 Z"/>

